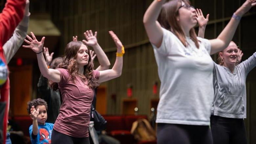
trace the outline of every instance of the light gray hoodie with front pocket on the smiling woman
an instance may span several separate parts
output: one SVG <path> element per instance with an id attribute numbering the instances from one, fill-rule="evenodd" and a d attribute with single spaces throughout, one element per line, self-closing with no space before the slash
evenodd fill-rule
<path id="1" fill-rule="evenodd" d="M 247 74 L 256 66 L 256 52 L 247 60 L 235 66 L 234 72 L 214 63 L 214 97 L 212 115 L 229 118 L 246 118 Z"/>

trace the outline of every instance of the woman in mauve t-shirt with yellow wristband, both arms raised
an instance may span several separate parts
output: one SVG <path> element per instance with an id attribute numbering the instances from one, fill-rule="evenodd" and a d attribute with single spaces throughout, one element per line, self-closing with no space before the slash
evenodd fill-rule
<path id="1" fill-rule="evenodd" d="M 23 47 L 36 52 L 42 75 L 51 80 L 53 89 L 58 88 L 62 95 L 63 103 L 53 127 L 52 144 L 90 143 L 88 126 L 94 89 L 98 83 L 116 78 L 122 72 L 124 48 L 117 35 L 113 31 L 109 33 L 117 46 L 117 58 L 113 68 L 105 71 L 93 70 L 89 49 L 81 41 L 72 41 L 66 46 L 64 62 L 59 69 L 48 69 L 42 53 L 45 37 L 37 41 L 32 32 L 32 38 L 27 36 L 25 41 L 29 46 Z M 93 33 L 87 31 L 87 35 Z"/>

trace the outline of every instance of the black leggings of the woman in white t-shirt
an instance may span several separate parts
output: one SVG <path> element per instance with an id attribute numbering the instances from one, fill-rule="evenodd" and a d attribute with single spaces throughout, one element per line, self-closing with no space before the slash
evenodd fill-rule
<path id="1" fill-rule="evenodd" d="M 212 144 L 209 126 L 157 124 L 158 144 Z"/>

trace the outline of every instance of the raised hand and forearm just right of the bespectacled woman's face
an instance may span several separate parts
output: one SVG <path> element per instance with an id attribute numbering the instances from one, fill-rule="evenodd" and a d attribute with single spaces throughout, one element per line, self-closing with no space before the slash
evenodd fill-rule
<path id="1" fill-rule="evenodd" d="M 196 16 L 197 16 L 197 22 L 199 26 L 198 37 L 204 38 L 204 31 L 209 20 L 209 14 L 207 14 L 206 18 L 204 18 L 202 10 L 196 9 Z"/>

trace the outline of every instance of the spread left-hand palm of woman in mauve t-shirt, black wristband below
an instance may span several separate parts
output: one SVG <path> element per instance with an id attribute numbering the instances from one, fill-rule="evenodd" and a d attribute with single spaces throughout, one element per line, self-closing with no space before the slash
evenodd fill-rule
<path id="1" fill-rule="evenodd" d="M 23 45 L 22 47 L 30 48 L 30 49 L 32 49 L 36 53 L 42 52 L 43 51 L 45 37 L 43 37 L 41 39 L 41 41 L 38 41 L 36 39 L 34 33 L 33 32 L 30 32 L 30 33 L 31 33 L 32 38 L 29 35 L 27 35 L 28 40 L 27 39 L 24 40 L 29 45 L 28 46 Z"/>

